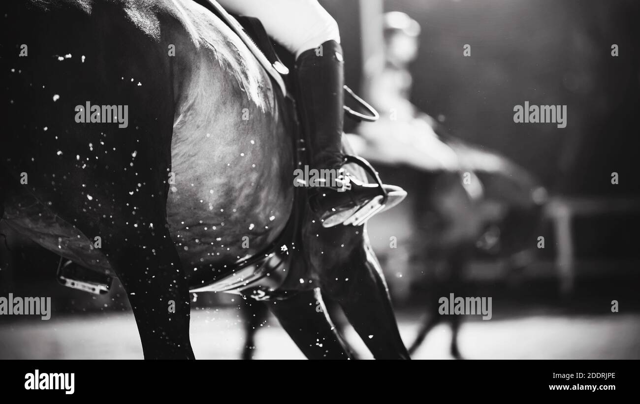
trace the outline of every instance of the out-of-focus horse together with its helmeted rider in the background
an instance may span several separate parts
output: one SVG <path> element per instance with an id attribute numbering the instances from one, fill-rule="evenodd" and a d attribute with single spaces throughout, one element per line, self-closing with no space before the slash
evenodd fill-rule
<path id="1" fill-rule="evenodd" d="M 357 128 L 360 136 L 351 137 L 351 141 L 358 153 L 376 161 L 381 173 L 406 187 L 410 201 L 387 215 L 393 220 L 380 217 L 371 224 L 375 234 L 386 231 L 395 241 L 373 242 L 378 253 L 388 252 L 388 267 L 422 263 L 410 273 L 405 271 L 404 283 L 428 274 L 429 261 L 436 261 L 440 270 L 430 279 L 432 293 L 471 296 L 463 282 L 470 260 L 502 256 L 516 268 L 531 261 L 535 245 L 532 232 L 546 191 L 522 167 L 498 153 L 456 139 L 439 121 L 412 104 L 413 78 L 408 66 L 417 56 L 420 26 L 401 12 L 388 12 L 383 20 L 384 46 L 367 60 L 364 89 L 381 119 L 362 123 Z M 444 117 L 440 119 L 444 121 Z M 401 278 L 389 279 L 394 286 Z M 402 297 L 397 288 L 395 297 Z M 436 302 L 429 298 L 429 315 L 410 351 L 446 318 L 454 334 L 451 353 L 460 357 L 460 316 L 439 315 Z"/>

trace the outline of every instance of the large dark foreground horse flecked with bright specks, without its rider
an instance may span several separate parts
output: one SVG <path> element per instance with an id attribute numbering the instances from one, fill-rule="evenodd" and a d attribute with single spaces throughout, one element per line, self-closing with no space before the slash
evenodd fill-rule
<path id="1" fill-rule="evenodd" d="M 218 15 L 191 0 L 16 3 L 0 217 L 117 276 L 145 359 L 195 358 L 195 290 L 265 300 L 308 358 L 348 359 L 316 311 L 326 295 L 376 359 L 408 359 L 365 226 L 310 212 L 292 182 L 294 98 Z"/>

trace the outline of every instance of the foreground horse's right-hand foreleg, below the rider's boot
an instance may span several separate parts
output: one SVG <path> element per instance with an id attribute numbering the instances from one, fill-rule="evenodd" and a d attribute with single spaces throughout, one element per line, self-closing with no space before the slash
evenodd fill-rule
<path id="1" fill-rule="evenodd" d="M 338 280 L 328 276 L 323 290 L 340 304 L 374 357 L 410 359 L 397 329 L 380 264 L 368 242 L 362 242 L 348 262 L 334 270 L 340 271 Z"/>

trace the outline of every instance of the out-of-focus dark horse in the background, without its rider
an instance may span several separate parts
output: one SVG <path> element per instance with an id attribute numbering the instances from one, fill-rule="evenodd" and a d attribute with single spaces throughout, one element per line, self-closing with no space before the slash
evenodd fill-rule
<path id="1" fill-rule="evenodd" d="M 451 324 L 453 332 L 451 354 L 460 358 L 457 336 L 461 317 L 440 315 L 438 297 L 449 293 L 474 296 L 464 281 L 465 269 L 472 260 L 504 260 L 509 276 L 529 265 L 535 256 L 535 234 L 547 191 L 506 157 L 445 134 L 428 116 L 421 119 L 428 124 L 428 127 L 419 125 L 426 128 L 422 134 L 432 137 L 431 141 L 403 144 L 371 136 L 378 128 L 370 130 L 365 126 L 376 123 L 363 124 L 360 132 L 364 136 L 353 137 L 351 142 L 358 153 L 376 161 L 383 175 L 409 192 L 404 206 L 387 218 L 372 221 L 371 227 L 376 235 L 386 233 L 395 237 L 396 245 L 392 246 L 388 239 L 372 240 L 374 249 L 385 260 L 385 267 L 411 267 L 403 274 L 398 272 L 406 277 L 402 281 L 405 284 L 416 283 L 420 278 L 417 283 L 429 283 L 427 315 L 410 344 L 410 353 L 419 348 L 429 330 L 445 321 Z M 433 141 L 440 144 L 429 148 Z M 444 151 L 446 157 L 433 156 L 438 150 Z M 406 158 L 397 160 L 394 156 Z M 424 161 L 422 167 L 415 164 L 420 160 Z M 434 167 L 438 160 L 446 162 Z M 399 219 L 403 216 L 404 220 Z M 418 267 L 410 265 L 415 262 Z M 407 273 L 418 270 L 419 274 Z M 403 293 L 394 288 L 401 282 L 393 274 L 387 274 L 387 278 L 392 296 L 402 299 Z M 402 287 L 400 284 L 399 288 Z"/>

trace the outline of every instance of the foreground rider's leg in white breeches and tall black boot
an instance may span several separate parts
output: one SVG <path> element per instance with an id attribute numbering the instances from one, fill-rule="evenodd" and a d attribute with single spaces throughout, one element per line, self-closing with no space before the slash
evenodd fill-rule
<path id="1" fill-rule="evenodd" d="M 360 224 L 402 201 L 403 189 L 369 184 L 342 170 L 347 162 L 342 153 L 344 63 L 338 25 L 329 13 L 317 0 L 219 1 L 229 12 L 260 19 L 269 36 L 296 56 L 298 104 L 310 141 L 311 168 L 335 169 L 341 174 L 339 187 L 324 184 L 309 194 L 310 206 L 323 226 Z M 349 162 L 371 167 L 363 159 Z"/>

